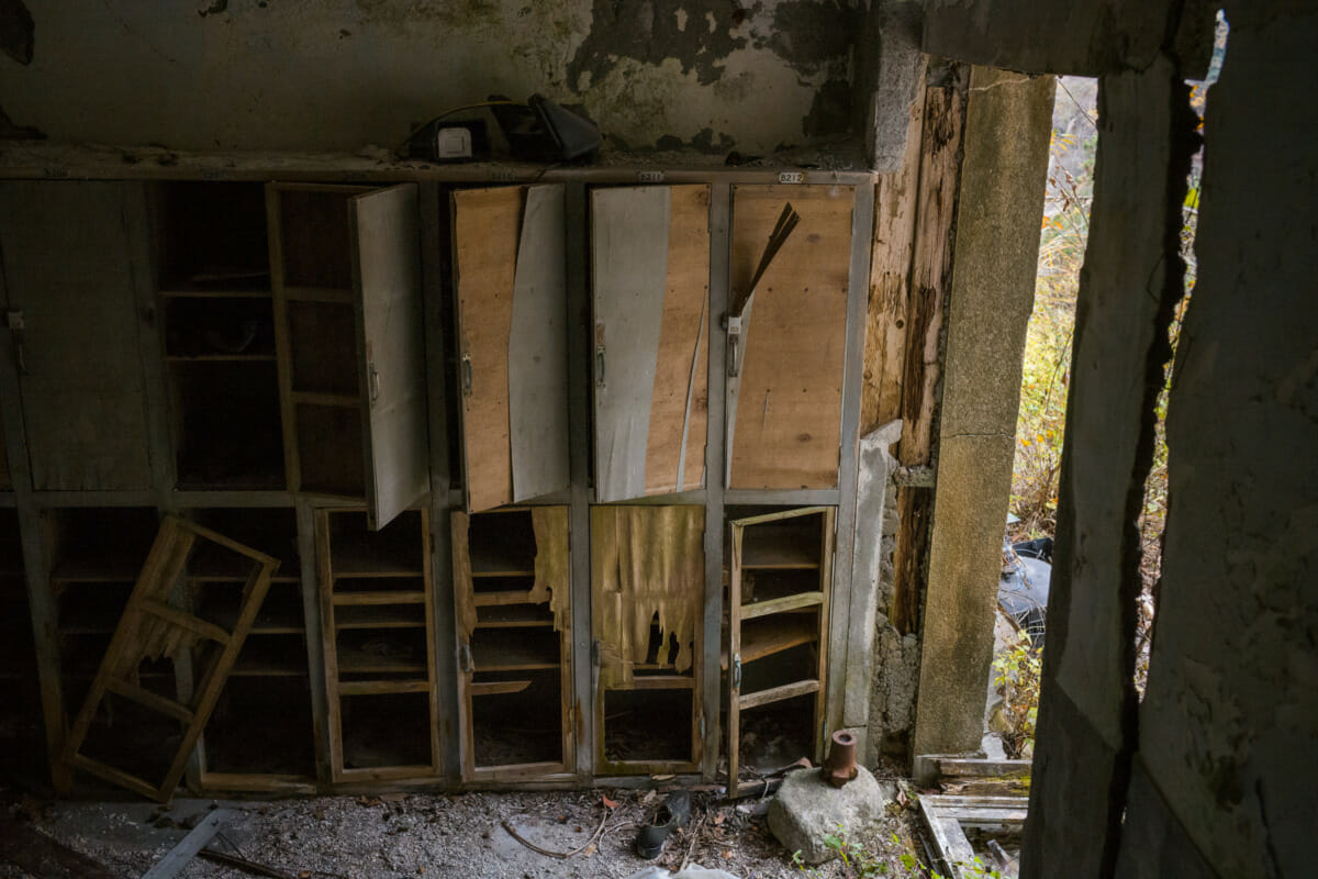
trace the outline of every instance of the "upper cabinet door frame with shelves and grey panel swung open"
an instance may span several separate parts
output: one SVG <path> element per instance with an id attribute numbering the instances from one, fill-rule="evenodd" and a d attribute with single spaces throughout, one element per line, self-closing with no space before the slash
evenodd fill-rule
<path id="1" fill-rule="evenodd" d="M 289 488 L 378 530 L 430 489 L 416 184 L 272 183 L 266 212 Z"/>

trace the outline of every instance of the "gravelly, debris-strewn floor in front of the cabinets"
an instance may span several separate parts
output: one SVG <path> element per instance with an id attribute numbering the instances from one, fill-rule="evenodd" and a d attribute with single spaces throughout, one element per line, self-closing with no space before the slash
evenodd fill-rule
<path id="1" fill-rule="evenodd" d="M 211 849 L 237 854 L 298 879 L 401 879 L 461 876 L 539 879 L 580 876 L 625 879 L 650 862 L 633 853 L 638 828 L 662 801 L 662 793 L 596 789 L 513 793 L 339 796 L 281 801 L 175 800 L 170 808 L 149 803 L 47 803 L 0 789 L 11 826 L 37 830 L 103 865 L 107 875 L 141 876 L 173 849 L 211 809 L 231 809 Z M 903 797 L 904 799 L 904 797 Z M 770 833 L 767 800 L 728 803 L 697 792 L 691 821 L 656 862 L 676 871 L 684 862 L 722 868 L 743 879 L 847 875 L 841 862 L 804 874 Z M 602 832 L 597 829 L 602 824 Z M 547 851 L 531 850 L 507 832 Z M 924 853 L 915 833 L 915 810 L 890 807 L 884 828 L 866 847 L 891 863 L 887 875 L 919 876 L 902 866 L 903 854 Z M 590 839 L 594 838 L 594 842 Z M 26 878 L 0 863 L 0 879 Z M 233 867 L 194 859 L 179 876 L 237 879 Z"/>

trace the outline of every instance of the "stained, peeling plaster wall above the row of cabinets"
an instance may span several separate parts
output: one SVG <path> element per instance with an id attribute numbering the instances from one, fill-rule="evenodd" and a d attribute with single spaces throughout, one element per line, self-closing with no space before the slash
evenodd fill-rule
<path id="1" fill-rule="evenodd" d="M 858 130 L 841 0 L 28 1 L 0 1 L 0 107 L 61 141 L 395 146 L 494 92 L 584 104 L 616 149 Z"/>

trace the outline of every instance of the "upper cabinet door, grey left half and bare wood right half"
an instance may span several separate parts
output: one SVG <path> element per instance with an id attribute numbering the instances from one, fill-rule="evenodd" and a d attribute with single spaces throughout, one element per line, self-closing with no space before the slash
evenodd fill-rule
<path id="1" fill-rule="evenodd" d="M 705 484 L 709 187 L 590 194 L 596 499 Z"/>

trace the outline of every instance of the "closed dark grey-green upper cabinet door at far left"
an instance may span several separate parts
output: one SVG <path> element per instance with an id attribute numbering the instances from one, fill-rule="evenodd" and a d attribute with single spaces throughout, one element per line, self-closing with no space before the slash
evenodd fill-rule
<path id="1" fill-rule="evenodd" d="M 0 245 L 32 485 L 37 490 L 152 486 L 140 290 L 133 236 L 145 235 L 141 183 L 0 184 Z"/>

